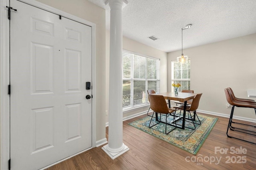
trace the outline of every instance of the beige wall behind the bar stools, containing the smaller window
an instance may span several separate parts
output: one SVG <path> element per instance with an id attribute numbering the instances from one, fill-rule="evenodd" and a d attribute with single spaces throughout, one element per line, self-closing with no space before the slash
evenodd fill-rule
<path id="1" fill-rule="evenodd" d="M 191 89 L 203 93 L 198 109 L 230 115 L 224 88 L 239 98 L 256 89 L 256 34 L 183 49 L 191 59 Z M 181 51 L 168 53 L 168 91 L 171 90 L 171 61 Z M 253 98 L 251 98 L 253 99 Z M 255 119 L 254 109 L 235 108 L 234 115 Z"/>

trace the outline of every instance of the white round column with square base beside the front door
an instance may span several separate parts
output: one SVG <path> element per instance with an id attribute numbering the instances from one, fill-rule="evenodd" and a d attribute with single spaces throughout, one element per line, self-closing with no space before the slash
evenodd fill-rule
<path id="1" fill-rule="evenodd" d="M 102 149 L 114 159 L 129 148 L 123 143 L 122 8 L 126 0 L 107 0 L 110 6 L 110 70 L 108 145 Z"/>

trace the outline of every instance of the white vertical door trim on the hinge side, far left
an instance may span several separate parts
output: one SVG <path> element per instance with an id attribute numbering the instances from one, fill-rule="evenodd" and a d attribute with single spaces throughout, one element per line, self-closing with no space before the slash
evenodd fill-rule
<path id="1" fill-rule="evenodd" d="M 0 0 L 0 169 L 8 169 L 10 158 L 9 0 Z"/>

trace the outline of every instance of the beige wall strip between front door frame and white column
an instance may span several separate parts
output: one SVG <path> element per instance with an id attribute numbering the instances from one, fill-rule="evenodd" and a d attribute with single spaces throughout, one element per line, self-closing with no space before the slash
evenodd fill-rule
<path id="1" fill-rule="evenodd" d="M 37 0 L 96 24 L 96 141 L 106 137 L 105 128 L 105 10 L 87 0 Z M 93 84 L 92 84 L 93 86 Z M 100 107 L 98 107 L 100 106 Z"/>

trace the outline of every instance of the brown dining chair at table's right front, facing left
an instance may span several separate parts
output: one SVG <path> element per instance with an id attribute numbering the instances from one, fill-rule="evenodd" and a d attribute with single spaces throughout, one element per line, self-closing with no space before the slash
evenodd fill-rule
<path id="1" fill-rule="evenodd" d="M 200 119 L 198 118 L 198 115 L 196 114 L 196 109 L 198 109 L 201 96 L 202 96 L 202 93 L 196 94 L 196 96 L 195 96 L 194 99 L 192 100 L 191 105 L 186 107 L 186 111 L 188 111 L 188 113 L 190 114 L 190 117 L 191 117 L 191 119 L 190 119 L 189 117 L 186 118 L 186 119 L 192 120 L 192 122 L 190 122 L 190 121 L 188 121 L 188 122 L 193 123 L 194 129 L 196 129 L 195 124 L 197 124 L 197 125 L 200 125 L 200 124 L 201 124 L 201 121 L 200 121 Z M 184 110 L 184 104 L 180 104 L 180 105 L 178 105 L 178 106 L 174 106 L 174 109 Z M 193 118 L 192 118 L 192 116 L 191 116 L 190 111 L 193 111 L 193 113 L 194 113 Z M 195 123 L 195 122 L 194 122 L 194 121 L 196 120 L 196 117 L 197 117 L 199 123 Z M 190 127 L 188 127 L 188 128 L 190 128 Z M 192 129 L 192 128 L 190 128 L 190 129 Z"/>

